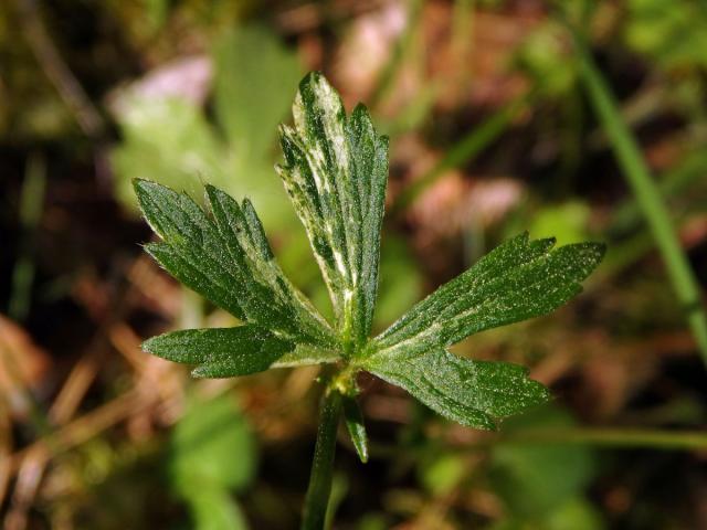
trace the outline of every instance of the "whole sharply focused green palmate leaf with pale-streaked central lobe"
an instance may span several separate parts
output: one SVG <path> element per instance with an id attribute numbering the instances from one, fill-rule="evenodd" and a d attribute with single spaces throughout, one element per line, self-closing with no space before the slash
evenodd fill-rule
<path id="1" fill-rule="evenodd" d="M 336 362 L 329 391 L 340 393 L 355 447 L 367 458 L 355 374 L 366 370 L 461 424 L 494 428 L 496 420 L 548 399 L 528 371 L 447 351 L 469 335 L 545 315 L 581 290 L 603 246 L 553 248 L 521 234 L 416 304 L 369 339 L 378 289 L 388 140 L 365 107 L 346 116 L 338 94 L 309 74 L 296 97 L 294 127 L 283 126 L 278 168 L 329 289 L 329 326 L 287 280 L 250 203 L 207 186 L 208 212 L 186 194 L 136 181 L 143 212 L 162 239 L 147 251 L 170 274 L 244 324 L 186 330 L 145 349 L 196 365 L 198 377 L 233 377 L 271 367 Z M 404 282 L 404 278 L 400 280 Z M 334 389 L 334 390 L 331 390 Z"/>

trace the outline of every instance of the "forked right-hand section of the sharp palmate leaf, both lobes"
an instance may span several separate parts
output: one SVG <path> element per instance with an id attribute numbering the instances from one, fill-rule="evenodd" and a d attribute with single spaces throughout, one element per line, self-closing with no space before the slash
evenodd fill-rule
<path id="1" fill-rule="evenodd" d="M 365 351 L 361 365 L 437 413 L 464 425 L 494 428 L 495 417 L 548 399 L 527 370 L 471 361 L 446 347 L 472 333 L 545 315 L 581 290 L 599 264 L 593 243 L 551 250 L 552 240 L 521 234 L 483 257 L 414 306 Z"/>

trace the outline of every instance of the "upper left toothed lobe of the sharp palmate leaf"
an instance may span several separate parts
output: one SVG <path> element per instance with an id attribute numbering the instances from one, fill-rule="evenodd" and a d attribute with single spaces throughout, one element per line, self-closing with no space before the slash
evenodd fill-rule
<path id="1" fill-rule="evenodd" d="M 188 195 L 138 180 L 140 208 L 162 243 L 146 250 L 170 274 L 241 320 L 331 347 L 327 322 L 282 274 L 251 203 L 207 187 L 214 221 Z"/>

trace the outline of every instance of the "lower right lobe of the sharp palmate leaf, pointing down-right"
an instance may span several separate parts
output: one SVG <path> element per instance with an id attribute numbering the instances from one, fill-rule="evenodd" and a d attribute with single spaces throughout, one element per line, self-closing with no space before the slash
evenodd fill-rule
<path id="1" fill-rule="evenodd" d="M 462 425 L 495 428 L 495 418 L 544 403 L 549 393 L 528 379 L 528 370 L 507 362 L 472 361 L 444 348 L 420 352 L 395 349 L 374 354 L 362 368 L 395 384 Z"/>

